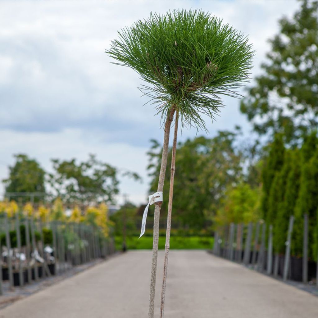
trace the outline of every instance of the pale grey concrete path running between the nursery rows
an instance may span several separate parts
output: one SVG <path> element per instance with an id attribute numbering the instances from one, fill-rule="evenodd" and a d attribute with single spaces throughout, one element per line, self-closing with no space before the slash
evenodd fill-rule
<path id="1" fill-rule="evenodd" d="M 0 311 L 0 318 L 147 318 L 151 252 L 128 252 Z M 159 253 L 159 316 L 163 252 Z M 317 318 L 318 297 L 204 251 L 169 254 L 165 318 Z"/>

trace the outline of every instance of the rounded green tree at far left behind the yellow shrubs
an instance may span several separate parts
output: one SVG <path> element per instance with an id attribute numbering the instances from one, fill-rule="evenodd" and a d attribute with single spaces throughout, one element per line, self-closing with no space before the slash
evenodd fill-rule
<path id="1" fill-rule="evenodd" d="M 40 192 L 45 195 L 45 171 L 39 163 L 30 159 L 27 155 L 18 154 L 14 156 L 16 162 L 9 167 L 10 174 L 8 179 L 4 179 L 5 196 L 16 197 L 17 192 Z M 13 192 L 13 193 L 12 193 Z M 43 197 L 35 196 L 34 201 L 38 202 Z M 24 202 L 30 201 L 30 196 L 23 196 Z"/>

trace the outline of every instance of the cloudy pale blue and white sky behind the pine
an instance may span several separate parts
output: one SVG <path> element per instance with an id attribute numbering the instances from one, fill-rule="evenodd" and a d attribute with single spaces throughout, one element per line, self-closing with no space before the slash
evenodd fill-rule
<path id="1" fill-rule="evenodd" d="M 121 179 L 121 193 L 145 202 L 149 140 L 162 140 L 152 105 L 142 106 L 141 81 L 131 69 L 111 64 L 104 53 L 117 30 L 149 12 L 200 8 L 249 36 L 256 50 L 252 77 L 269 50 L 277 20 L 291 17 L 294 0 L 220 1 L 1 1 L 0 2 L 0 179 L 13 154 L 25 153 L 50 170 L 51 158 L 85 160 L 89 153 L 130 169 L 143 183 Z M 239 100 L 225 98 L 209 135 L 239 124 Z M 195 130 L 183 130 L 181 140 Z M 3 186 L 0 186 L 0 197 Z M 118 202 L 121 203 L 121 198 Z"/>

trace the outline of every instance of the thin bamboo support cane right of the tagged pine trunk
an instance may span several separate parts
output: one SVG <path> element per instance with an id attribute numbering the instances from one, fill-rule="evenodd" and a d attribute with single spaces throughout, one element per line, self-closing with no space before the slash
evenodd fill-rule
<path id="1" fill-rule="evenodd" d="M 171 176 L 170 176 L 170 187 L 169 187 L 169 202 L 168 202 L 167 233 L 166 233 L 166 245 L 165 245 L 165 255 L 164 255 L 163 280 L 162 280 L 162 290 L 161 290 L 160 318 L 163 318 L 164 301 L 165 301 L 165 296 L 166 296 L 168 257 L 169 257 L 169 248 L 170 248 L 173 184 L 174 184 L 175 170 L 176 170 L 178 115 L 179 115 L 178 111 L 176 111 L 175 132 L 174 132 L 174 136 L 173 136 L 173 145 L 172 145 Z"/>

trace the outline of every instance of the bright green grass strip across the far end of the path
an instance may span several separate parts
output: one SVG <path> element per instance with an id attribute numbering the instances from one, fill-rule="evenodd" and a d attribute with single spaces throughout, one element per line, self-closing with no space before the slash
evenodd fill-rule
<path id="1" fill-rule="evenodd" d="M 159 249 L 164 249 L 166 238 L 159 237 Z M 152 249 L 152 236 L 127 237 L 127 248 L 130 250 Z M 115 236 L 115 245 L 117 250 L 122 248 L 122 236 Z M 211 249 L 213 246 L 213 237 L 202 236 L 171 236 L 170 249 Z"/>

